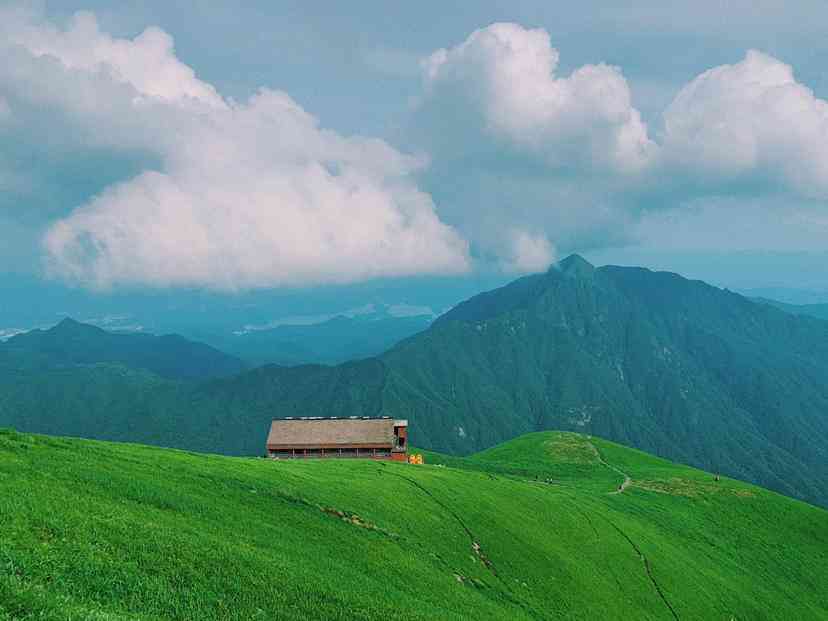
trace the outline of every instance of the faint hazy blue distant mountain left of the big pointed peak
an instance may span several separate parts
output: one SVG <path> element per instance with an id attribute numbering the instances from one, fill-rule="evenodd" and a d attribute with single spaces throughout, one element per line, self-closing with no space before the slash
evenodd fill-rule
<path id="1" fill-rule="evenodd" d="M 384 313 L 337 316 L 310 325 L 281 325 L 236 335 L 199 335 L 205 342 L 248 364 L 339 364 L 383 353 L 422 332 L 430 315 L 395 317 Z"/>

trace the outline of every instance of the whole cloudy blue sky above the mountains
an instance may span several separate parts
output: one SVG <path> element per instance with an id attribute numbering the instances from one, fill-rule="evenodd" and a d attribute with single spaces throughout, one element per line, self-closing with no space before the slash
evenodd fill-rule
<path id="1" fill-rule="evenodd" d="M 824 2 L 237 4 L 0 2 L 18 306 L 440 305 L 572 252 L 828 290 Z"/>

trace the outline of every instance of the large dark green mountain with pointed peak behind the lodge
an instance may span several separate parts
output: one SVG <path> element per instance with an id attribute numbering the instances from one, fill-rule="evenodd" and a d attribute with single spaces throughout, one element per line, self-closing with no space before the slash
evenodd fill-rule
<path id="1" fill-rule="evenodd" d="M 543 429 L 594 433 L 828 504 L 826 378 L 825 322 L 573 256 L 376 361 L 264 368 L 210 390 L 220 403 L 258 394 L 245 407 L 262 421 L 406 417 L 421 445 L 459 454 Z"/>

